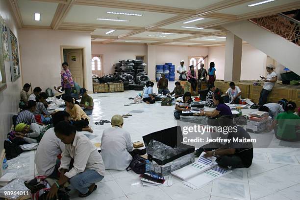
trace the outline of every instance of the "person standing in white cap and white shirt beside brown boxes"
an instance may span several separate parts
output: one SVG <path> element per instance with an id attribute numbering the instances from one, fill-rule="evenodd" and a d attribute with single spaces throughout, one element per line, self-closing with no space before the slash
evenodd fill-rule
<path id="1" fill-rule="evenodd" d="M 267 102 L 269 93 L 272 91 L 275 83 L 277 81 L 277 73 L 274 71 L 274 65 L 270 64 L 267 66 L 267 77 L 261 76 L 265 82 L 263 89 L 260 91 L 260 96 L 258 100 L 258 106 L 263 106 Z"/>

